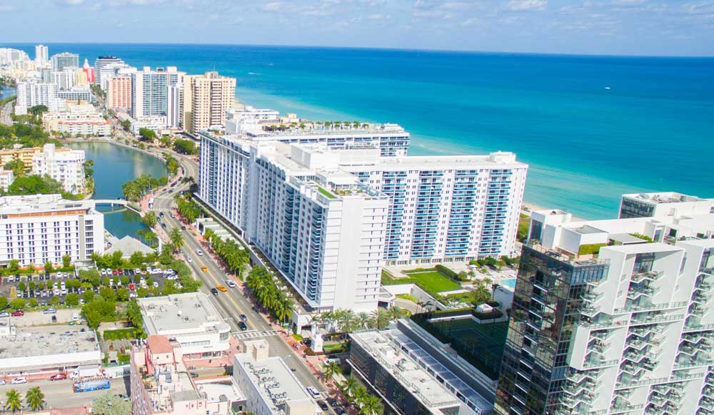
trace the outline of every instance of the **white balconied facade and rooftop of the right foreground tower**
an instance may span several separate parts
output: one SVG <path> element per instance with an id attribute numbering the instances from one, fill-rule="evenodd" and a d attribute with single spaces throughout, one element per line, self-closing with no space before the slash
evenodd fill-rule
<path id="1" fill-rule="evenodd" d="M 563 270 L 555 275 L 572 275 L 561 294 L 580 292 L 578 284 L 581 290 L 580 298 L 568 302 L 575 308 L 567 317 L 573 326 L 565 367 L 556 363 L 563 389 L 550 388 L 552 394 L 560 391 L 559 414 L 709 414 L 714 405 L 714 214 L 670 215 L 669 208 L 654 213 L 572 222 L 564 212 L 543 210 L 533 218 L 542 227 L 531 238 L 542 245 L 524 248 L 528 262 L 550 258 L 550 270 Z M 583 245 L 594 244 L 595 258 L 578 255 Z M 526 266 L 521 263 L 521 273 L 528 272 Z M 516 291 L 530 290 L 521 278 Z M 540 280 L 535 274 L 536 304 L 547 303 L 550 290 L 560 292 L 548 288 L 548 277 Z M 549 307 L 540 307 L 546 318 Z M 517 325 L 512 321 L 511 330 Z M 557 338 L 558 328 L 551 329 Z M 526 336 L 521 352 L 538 356 L 533 335 Z M 518 386 L 521 378 L 516 379 Z M 521 406 L 512 401 L 511 409 Z"/>

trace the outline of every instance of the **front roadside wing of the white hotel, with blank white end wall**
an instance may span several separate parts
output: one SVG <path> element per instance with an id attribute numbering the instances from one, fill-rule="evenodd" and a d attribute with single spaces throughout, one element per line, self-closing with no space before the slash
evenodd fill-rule
<path id="1" fill-rule="evenodd" d="M 199 198 L 320 310 L 378 301 L 388 198 L 323 148 L 202 135 Z"/>

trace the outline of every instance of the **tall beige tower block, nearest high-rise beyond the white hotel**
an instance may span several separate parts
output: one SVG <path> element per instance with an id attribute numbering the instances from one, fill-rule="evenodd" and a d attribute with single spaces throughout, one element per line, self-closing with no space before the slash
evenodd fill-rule
<path id="1" fill-rule="evenodd" d="M 226 110 L 233 106 L 236 78 L 218 72 L 183 77 L 183 129 L 198 133 L 211 125 L 226 124 Z"/>

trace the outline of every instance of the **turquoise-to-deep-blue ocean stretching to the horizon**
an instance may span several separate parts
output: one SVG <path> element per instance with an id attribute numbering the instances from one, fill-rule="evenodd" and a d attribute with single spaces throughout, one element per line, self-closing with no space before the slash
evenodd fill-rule
<path id="1" fill-rule="evenodd" d="M 30 56 L 34 45 L 11 45 Z M 578 217 L 622 193 L 714 197 L 714 58 L 359 48 L 49 44 L 90 63 L 219 71 L 253 106 L 316 120 L 399 123 L 411 155 L 512 151 L 526 200 Z"/>

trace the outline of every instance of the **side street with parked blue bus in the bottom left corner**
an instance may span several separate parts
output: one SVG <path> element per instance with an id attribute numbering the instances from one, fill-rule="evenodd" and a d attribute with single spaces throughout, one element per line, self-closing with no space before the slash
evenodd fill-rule
<path id="1" fill-rule="evenodd" d="M 0 400 L 4 404 L 5 393 L 11 389 L 15 389 L 21 394 L 24 403 L 25 394 L 28 389 L 36 386 L 39 386 L 42 393 L 45 394 L 47 409 L 74 408 L 84 404 L 91 404 L 91 401 L 108 392 L 104 389 L 101 391 L 81 392 L 76 394 L 72 391 L 72 381 L 69 379 L 62 381 L 31 381 L 29 383 L 19 385 L 13 385 L 8 382 L 8 384 L 0 386 Z M 129 376 L 111 379 L 111 389 L 109 389 L 109 391 L 115 395 L 122 394 L 124 396 L 129 396 Z"/>

